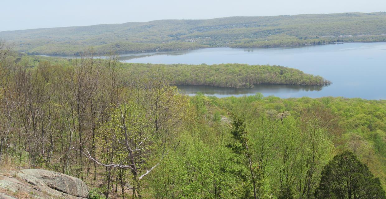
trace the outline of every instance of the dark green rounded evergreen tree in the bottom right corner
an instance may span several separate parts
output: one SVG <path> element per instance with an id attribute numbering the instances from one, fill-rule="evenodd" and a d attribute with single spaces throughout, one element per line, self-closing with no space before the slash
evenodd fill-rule
<path id="1" fill-rule="evenodd" d="M 324 199 L 385 199 L 379 178 L 350 151 L 335 155 L 322 171 L 315 197 Z"/>

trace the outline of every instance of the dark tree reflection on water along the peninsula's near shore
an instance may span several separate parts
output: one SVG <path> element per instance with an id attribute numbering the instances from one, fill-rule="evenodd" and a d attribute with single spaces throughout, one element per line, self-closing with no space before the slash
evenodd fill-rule
<path id="1" fill-rule="evenodd" d="M 215 86 L 193 86 L 178 85 L 181 93 L 203 93 L 209 95 L 238 95 L 238 94 L 255 94 L 255 93 L 296 93 L 299 91 L 321 91 L 323 86 L 306 86 L 306 85 L 278 85 L 278 84 L 256 84 L 254 88 L 225 88 Z"/>

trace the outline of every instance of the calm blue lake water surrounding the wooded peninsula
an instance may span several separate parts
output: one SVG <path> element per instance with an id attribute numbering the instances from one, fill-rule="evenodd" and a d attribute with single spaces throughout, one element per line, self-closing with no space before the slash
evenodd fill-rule
<path id="1" fill-rule="evenodd" d="M 300 69 L 332 81 L 326 87 L 255 85 L 254 88 L 178 86 L 181 92 L 201 92 L 217 97 L 275 95 L 281 98 L 343 96 L 386 99 L 386 43 L 344 43 L 270 49 L 208 48 L 192 51 L 125 54 L 123 62 L 162 64 L 271 64 Z"/>

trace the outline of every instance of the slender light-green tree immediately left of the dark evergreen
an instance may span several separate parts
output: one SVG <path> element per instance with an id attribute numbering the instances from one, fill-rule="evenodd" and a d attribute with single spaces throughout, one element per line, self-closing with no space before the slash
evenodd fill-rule
<path id="1" fill-rule="evenodd" d="M 297 187 L 299 198 L 311 198 L 323 165 L 332 158 L 334 117 L 317 104 L 301 115 L 301 150 Z"/>

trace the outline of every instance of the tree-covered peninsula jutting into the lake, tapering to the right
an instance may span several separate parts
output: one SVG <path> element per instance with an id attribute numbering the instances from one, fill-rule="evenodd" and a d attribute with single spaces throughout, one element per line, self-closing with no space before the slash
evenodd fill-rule
<path id="1" fill-rule="evenodd" d="M 122 64 L 131 76 L 150 76 L 164 70 L 174 85 L 201 85 L 250 88 L 254 84 L 289 84 L 324 86 L 331 84 L 321 76 L 303 73 L 284 66 L 248 64 Z"/>

